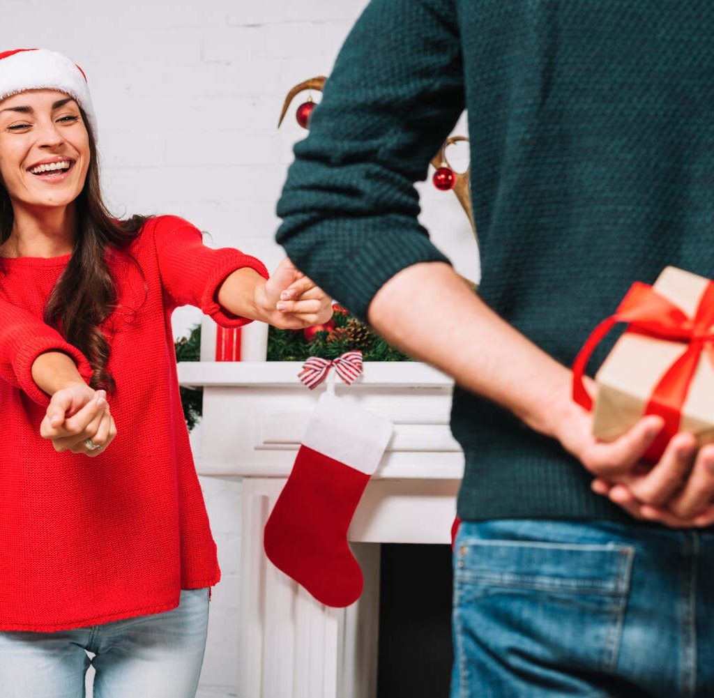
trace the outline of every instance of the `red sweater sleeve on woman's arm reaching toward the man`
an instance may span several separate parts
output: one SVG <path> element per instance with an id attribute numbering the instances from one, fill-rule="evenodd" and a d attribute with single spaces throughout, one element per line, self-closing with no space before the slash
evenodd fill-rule
<path id="1" fill-rule="evenodd" d="M 161 283 L 172 308 L 195 305 L 223 327 L 250 323 L 250 318 L 233 315 L 218 304 L 218 289 L 236 269 L 249 267 L 268 278 L 265 265 L 233 248 L 206 247 L 201 231 L 183 218 L 160 216 L 153 222 Z"/>

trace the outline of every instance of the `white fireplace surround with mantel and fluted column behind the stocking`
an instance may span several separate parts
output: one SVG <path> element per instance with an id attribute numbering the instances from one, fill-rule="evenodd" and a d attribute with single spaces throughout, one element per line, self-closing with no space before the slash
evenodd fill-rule
<path id="1" fill-rule="evenodd" d="M 200 475 L 243 477 L 239 653 L 241 698 L 375 698 L 379 544 L 448 543 L 463 455 L 449 430 L 453 383 L 420 363 L 365 363 L 336 392 L 390 419 L 394 434 L 349 530 L 365 577 L 344 610 L 316 602 L 263 552 L 263 526 L 325 388 L 297 379 L 301 363 L 181 363 L 203 385 Z M 236 593 L 238 590 L 236 590 Z"/>

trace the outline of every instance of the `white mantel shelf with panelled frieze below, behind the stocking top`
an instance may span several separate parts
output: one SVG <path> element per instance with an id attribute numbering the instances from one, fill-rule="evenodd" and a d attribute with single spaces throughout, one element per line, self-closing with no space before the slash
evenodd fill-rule
<path id="1" fill-rule="evenodd" d="M 203 386 L 200 475 L 287 477 L 323 383 L 308 390 L 298 361 L 198 361 L 178 364 L 181 385 Z M 459 480 L 461 448 L 451 435 L 453 381 L 416 362 L 366 362 L 336 394 L 394 424 L 375 479 Z M 346 428 L 346 437 L 348 429 Z"/>

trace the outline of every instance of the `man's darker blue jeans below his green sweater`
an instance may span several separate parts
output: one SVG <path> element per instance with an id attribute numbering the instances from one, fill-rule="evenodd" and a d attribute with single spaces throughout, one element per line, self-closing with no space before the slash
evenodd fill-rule
<path id="1" fill-rule="evenodd" d="M 714 696 L 714 533 L 462 522 L 451 698 Z"/>

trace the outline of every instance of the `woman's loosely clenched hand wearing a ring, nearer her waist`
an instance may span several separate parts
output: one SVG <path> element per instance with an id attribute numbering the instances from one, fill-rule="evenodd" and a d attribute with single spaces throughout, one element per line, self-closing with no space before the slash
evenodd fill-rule
<path id="1" fill-rule="evenodd" d="M 56 451 L 69 450 L 94 457 L 103 453 L 116 436 L 106 392 L 74 383 L 57 390 L 40 425 L 40 435 Z"/>

